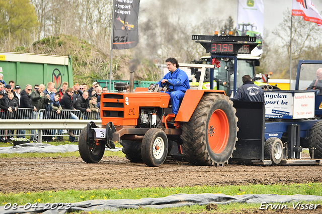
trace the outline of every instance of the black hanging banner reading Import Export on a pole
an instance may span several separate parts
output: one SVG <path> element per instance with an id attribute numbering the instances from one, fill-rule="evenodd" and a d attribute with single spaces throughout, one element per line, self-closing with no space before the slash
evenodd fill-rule
<path id="1" fill-rule="evenodd" d="M 134 48 L 139 42 L 137 18 L 140 0 L 113 0 L 113 49 Z"/>

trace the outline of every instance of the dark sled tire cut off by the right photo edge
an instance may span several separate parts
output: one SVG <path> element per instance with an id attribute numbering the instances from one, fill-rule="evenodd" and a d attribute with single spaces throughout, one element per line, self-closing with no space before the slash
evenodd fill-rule
<path id="1" fill-rule="evenodd" d="M 314 158 L 322 158 L 322 121 L 318 121 L 312 126 L 308 138 L 308 149 L 311 157 L 312 148 L 314 148 Z"/>

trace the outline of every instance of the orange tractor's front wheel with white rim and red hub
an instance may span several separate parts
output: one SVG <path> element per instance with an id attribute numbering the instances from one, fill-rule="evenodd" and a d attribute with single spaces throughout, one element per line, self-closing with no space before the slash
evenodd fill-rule
<path id="1" fill-rule="evenodd" d="M 141 155 L 147 166 L 160 166 L 167 158 L 168 138 L 160 129 L 149 129 L 142 140 Z"/>

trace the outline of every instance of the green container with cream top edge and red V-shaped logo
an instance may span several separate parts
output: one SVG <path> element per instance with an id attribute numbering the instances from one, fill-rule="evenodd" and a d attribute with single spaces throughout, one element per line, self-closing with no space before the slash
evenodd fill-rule
<path id="1" fill-rule="evenodd" d="M 14 80 L 22 89 L 27 84 L 46 86 L 49 81 L 55 83 L 57 90 L 62 82 L 73 85 L 70 56 L 0 52 L 0 73 L 7 84 Z"/>

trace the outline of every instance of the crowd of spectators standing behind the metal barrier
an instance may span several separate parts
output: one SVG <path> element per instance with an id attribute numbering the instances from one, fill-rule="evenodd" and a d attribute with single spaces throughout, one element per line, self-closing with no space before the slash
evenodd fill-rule
<path id="1" fill-rule="evenodd" d="M 68 83 L 63 82 L 61 88 L 57 91 L 54 83 L 48 82 L 46 89 L 44 84 L 35 84 L 34 87 L 27 84 L 25 89 L 22 90 L 20 85 L 15 85 L 14 80 L 6 84 L 3 78 L 3 74 L 0 73 L 1 119 L 52 119 L 59 116 L 62 110 L 80 110 L 82 113 L 93 113 L 84 114 L 83 117 L 90 115 L 88 117 L 91 118 L 88 119 L 96 119 L 95 117 L 100 111 L 101 93 L 107 92 L 107 87 L 102 88 L 97 82 L 94 82 L 89 89 L 86 83 L 75 83 L 72 87 L 68 87 Z M 14 114 L 19 109 L 30 109 L 32 113 Z M 54 117 L 52 117 L 53 114 Z M 67 111 L 66 114 L 68 119 L 79 119 L 72 111 Z M 53 133 L 50 130 L 48 131 L 51 134 Z M 58 135 L 61 134 L 62 130 L 59 131 Z M 7 130 L 4 132 L 2 132 L 2 135 L 8 135 Z M 17 130 L 17 135 L 24 137 L 25 130 Z M 73 130 L 69 130 L 68 135 L 70 141 L 76 141 Z M 8 143 L 10 139 L 10 136 L 0 137 L 0 142 Z M 37 139 L 31 138 L 31 140 Z M 57 138 L 45 136 L 43 140 L 49 142 L 52 140 L 62 141 L 63 139 L 62 136 Z"/>

